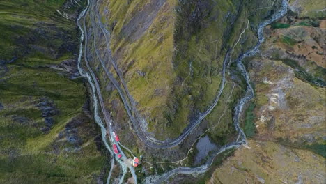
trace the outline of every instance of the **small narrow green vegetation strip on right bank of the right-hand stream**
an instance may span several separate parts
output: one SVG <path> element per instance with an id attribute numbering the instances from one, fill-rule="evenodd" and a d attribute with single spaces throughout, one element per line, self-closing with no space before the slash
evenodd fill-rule
<path id="1" fill-rule="evenodd" d="M 246 118 L 244 118 L 244 134 L 250 138 L 256 134 L 256 125 L 255 125 L 255 115 L 254 115 L 254 108 L 255 104 L 250 102 L 249 107 L 246 110 Z"/>

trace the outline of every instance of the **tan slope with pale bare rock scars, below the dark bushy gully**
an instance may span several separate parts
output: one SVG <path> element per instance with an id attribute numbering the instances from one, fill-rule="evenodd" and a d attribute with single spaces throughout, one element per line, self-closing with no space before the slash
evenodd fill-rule
<path id="1" fill-rule="evenodd" d="M 325 132 L 325 89 L 297 79 L 293 70 L 280 61 L 254 59 L 252 63 L 256 66 L 250 73 L 257 93 L 259 139 L 272 134 L 274 139 L 287 137 L 291 142 L 301 142 L 308 133 L 314 137 L 307 139 L 309 142 L 320 140 Z M 267 70 L 273 71 L 268 74 L 272 83 L 264 84 L 261 77 Z"/>

